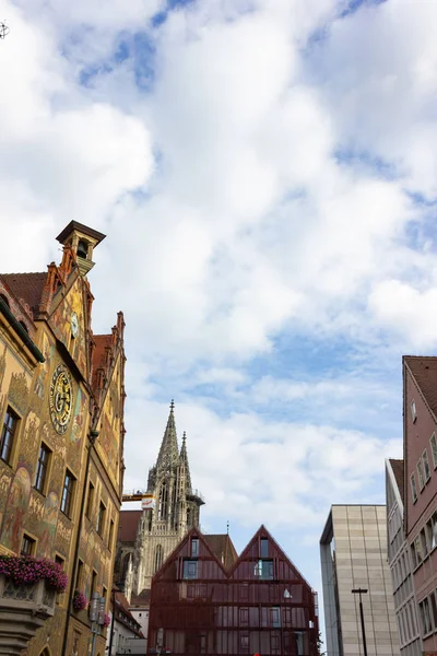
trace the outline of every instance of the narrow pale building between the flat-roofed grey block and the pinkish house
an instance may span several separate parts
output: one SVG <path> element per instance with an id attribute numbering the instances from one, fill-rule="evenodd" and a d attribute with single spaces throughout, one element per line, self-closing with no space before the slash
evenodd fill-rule
<path id="1" fill-rule="evenodd" d="M 413 567 L 403 530 L 403 460 L 386 460 L 388 542 L 394 612 L 402 656 L 422 656 L 423 646 L 414 597 Z"/>

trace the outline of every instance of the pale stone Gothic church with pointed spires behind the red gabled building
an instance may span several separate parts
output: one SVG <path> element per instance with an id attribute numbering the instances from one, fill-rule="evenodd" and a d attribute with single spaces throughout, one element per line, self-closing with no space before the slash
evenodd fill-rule
<path id="1" fill-rule="evenodd" d="M 173 401 L 156 464 L 141 496 L 141 511 L 120 513 L 115 581 L 128 599 L 151 588 L 154 573 L 187 531 L 199 526 L 204 503 L 191 484 L 185 433 L 179 449 Z"/>

